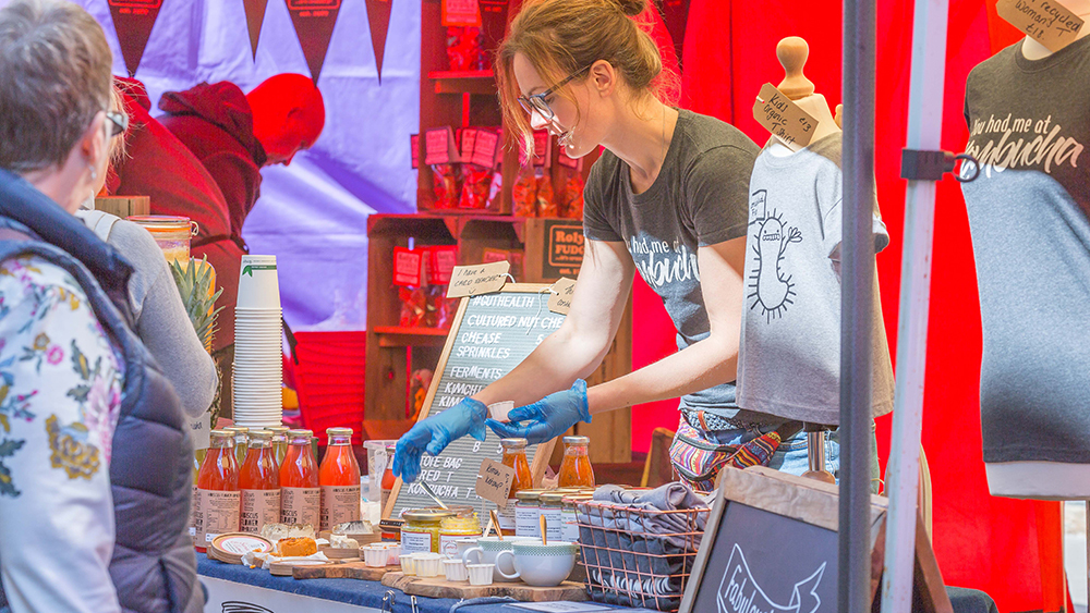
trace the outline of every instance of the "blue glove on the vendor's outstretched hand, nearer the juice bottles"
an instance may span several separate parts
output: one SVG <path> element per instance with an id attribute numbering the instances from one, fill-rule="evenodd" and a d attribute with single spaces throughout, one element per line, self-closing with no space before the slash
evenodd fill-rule
<path id="1" fill-rule="evenodd" d="M 465 434 L 483 441 L 487 433 L 484 429 L 484 418 L 487 416 L 488 407 L 483 402 L 462 399 L 443 413 L 419 421 L 398 440 L 393 452 L 393 476 L 411 483 L 420 477 L 420 456 L 425 451 L 431 455 L 439 455 L 450 441 Z"/>

